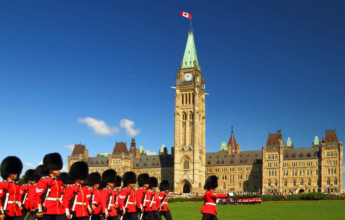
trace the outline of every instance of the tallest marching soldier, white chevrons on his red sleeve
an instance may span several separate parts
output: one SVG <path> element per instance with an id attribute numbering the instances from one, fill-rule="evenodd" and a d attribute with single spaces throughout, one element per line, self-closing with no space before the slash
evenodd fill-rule
<path id="1" fill-rule="evenodd" d="M 37 218 L 43 220 L 65 220 L 65 210 L 60 201 L 62 181 L 57 179 L 62 169 L 59 153 L 49 153 L 43 158 L 43 170 L 48 176 L 42 177 L 33 194 L 33 208 Z"/>

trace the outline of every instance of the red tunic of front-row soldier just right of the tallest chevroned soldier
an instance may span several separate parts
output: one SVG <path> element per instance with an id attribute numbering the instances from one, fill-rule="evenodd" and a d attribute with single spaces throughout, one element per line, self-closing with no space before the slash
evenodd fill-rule
<path id="1" fill-rule="evenodd" d="M 77 201 L 73 210 L 74 200 L 72 201 L 72 199 L 75 192 L 77 193 Z M 73 214 L 71 211 L 75 211 L 76 213 L 73 214 L 73 217 L 89 216 L 89 212 L 87 210 L 87 208 L 89 208 L 89 204 L 87 203 L 86 194 L 87 189 L 85 186 L 81 186 L 77 183 L 69 185 L 63 194 L 63 208 L 65 208 L 66 213 L 69 212 L 70 214 Z M 71 207 L 71 209 L 69 209 L 69 207 Z"/>

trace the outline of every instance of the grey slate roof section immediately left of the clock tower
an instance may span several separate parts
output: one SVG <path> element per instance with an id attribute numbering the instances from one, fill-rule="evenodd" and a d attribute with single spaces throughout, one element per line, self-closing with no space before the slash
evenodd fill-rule
<path id="1" fill-rule="evenodd" d="M 146 164 L 146 167 L 145 167 Z M 154 164 L 154 167 L 152 167 Z M 168 154 L 165 158 L 163 155 L 145 155 L 139 156 L 138 159 L 133 160 L 133 168 L 164 168 L 174 167 L 174 158 Z"/>

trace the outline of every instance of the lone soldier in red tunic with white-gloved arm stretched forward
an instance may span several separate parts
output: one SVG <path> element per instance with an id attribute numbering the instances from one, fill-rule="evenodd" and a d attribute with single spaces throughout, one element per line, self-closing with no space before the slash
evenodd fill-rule
<path id="1" fill-rule="evenodd" d="M 215 193 L 215 189 L 218 187 L 218 178 L 216 176 L 210 176 L 207 178 L 204 189 L 207 190 L 204 196 L 204 205 L 200 210 L 203 214 L 201 220 L 218 220 L 216 217 L 216 199 L 227 198 L 233 196 L 234 193 Z"/>

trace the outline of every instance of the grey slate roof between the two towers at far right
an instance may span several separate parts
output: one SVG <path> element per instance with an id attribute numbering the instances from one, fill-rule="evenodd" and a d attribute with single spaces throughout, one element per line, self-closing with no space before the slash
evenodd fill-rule
<path id="1" fill-rule="evenodd" d="M 293 157 L 294 154 L 295 158 Z M 307 156 L 308 154 L 310 154 L 310 157 Z M 305 160 L 318 158 L 320 158 L 319 148 L 292 148 L 284 149 L 283 151 L 283 160 Z"/>

